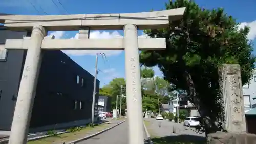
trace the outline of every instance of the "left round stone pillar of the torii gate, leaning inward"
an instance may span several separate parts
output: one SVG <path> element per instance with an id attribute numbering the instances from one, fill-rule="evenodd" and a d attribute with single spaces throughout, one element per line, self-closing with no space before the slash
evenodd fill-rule
<path id="1" fill-rule="evenodd" d="M 44 27 L 33 27 L 30 38 L 31 43 L 28 47 L 22 78 L 20 80 L 9 143 L 27 143 L 29 122 L 41 66 L 41 44 L 45 35 L 46 31 Z"/>

